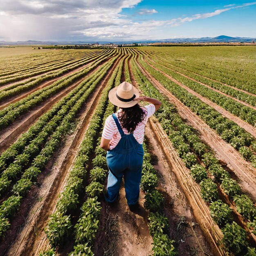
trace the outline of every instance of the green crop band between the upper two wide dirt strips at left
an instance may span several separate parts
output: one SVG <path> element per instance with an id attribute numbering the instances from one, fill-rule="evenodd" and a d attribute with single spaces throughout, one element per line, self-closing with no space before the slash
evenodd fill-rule
<path id="1" fill-rule="evenodd" d="M 31 108 L 37 106 L 38 103 L 45 101 L 45 99 L 52 97 L 52 95 L 56 94 L 60 90 L 67 88 L 78 79 L 81 79 L 83 76 L 88 74 L 88 72 L 97 67 L 97 65 L 105 61 L 108 57 L 109 56 L 107 55 L 98 61 L 94 61 L 90 67 L 75 72 L 74 74 L 71 74 L 63 79 L 59 79 L 46 88 L 40 89 L 30 94 L 25 99 L 21 99 L 16 103 L 10 104 L 7 108 L 4 108 L 0 111 L 0 129 L 11 124 L 21 114 L 26 113 L 27 111 L 31 110 Z"/>

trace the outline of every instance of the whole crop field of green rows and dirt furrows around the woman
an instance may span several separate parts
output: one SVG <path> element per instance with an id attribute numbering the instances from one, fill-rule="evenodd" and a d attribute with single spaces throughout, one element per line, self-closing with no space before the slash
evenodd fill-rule
<path id="1" fill-rule="evenodd" d="M 255 46 L 4 49 L 0 256 L 256 256 Z M 123 81 L 162 102 L 137 213 L 103 197 Z"/>

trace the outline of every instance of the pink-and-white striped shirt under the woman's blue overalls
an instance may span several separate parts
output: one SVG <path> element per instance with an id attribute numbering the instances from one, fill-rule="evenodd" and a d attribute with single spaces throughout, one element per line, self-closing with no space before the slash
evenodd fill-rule
<path id="1" fill-rule="evenodd" d="M 143 143 L 145 125 L 148 121 L 148 118 L 155 113 L 155 105 L 149 104 L 145 107 L 141 107 L 141 109 L 144 110 L 146 116 L 144 117 L 144 120 L 141 123 L 137 124 L 135 130 L 133 131 L 133 136 L 135 137 L 139 144 Z M 119 109 L 118 112 L 121 112 L 121 109 Z M 117 116 L 117 112 L 115 113 L 115 115 Z M 123 128 L 123 131 L 124 134 L 128 134 L 125 128 Z M 108 116 L 106 119 L 105 126 L 102 132 L 102 137 L 104 139 L 110 139 L 110 150 L 115 148 L 115 146 L 117 146 L 119 140 L 121 139 L 120 132 L 117 128 L 117 125 L 112 115 Z"/>

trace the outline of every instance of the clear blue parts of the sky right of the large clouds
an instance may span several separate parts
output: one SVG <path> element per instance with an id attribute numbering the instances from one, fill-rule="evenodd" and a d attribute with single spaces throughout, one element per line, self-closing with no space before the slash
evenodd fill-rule
<path id="1" fill-rule="evenodd" d="M 123 9 L 121 14 L 141 22 L 142 20 L 171 20 L 191 17 L 195 14 L 211 13 L 220 9 L 237 7 L 253 1 L 166 1 L 144 0 L 135 8 Z M 140 15 L 140 9 L 154 9 L 157 13 Z M 216 16 L 192 20 L 177 27 L 162 26 L 155 31 L 156 38 L 175 37 L 214 37 L 219 35 L 256 37 L 256 2 L 255 4 L 230 9 Z"/>

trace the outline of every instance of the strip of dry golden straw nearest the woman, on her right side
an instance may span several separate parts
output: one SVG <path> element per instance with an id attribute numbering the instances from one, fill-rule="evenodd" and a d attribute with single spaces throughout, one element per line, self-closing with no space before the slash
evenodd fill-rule
<path id="1" fill-rule="evenodd" d="M 171 165 L 171 169 L 175 173 L 177 180 L 189 201 L 189 205 L 193 210 L 193 216 L 196 222 L 200 225 L 205 238 L 208 240 L 211 251 L 214 255 L 227 255 L 224 247 L 220 245 L 223 236 L 222 232 L 211 218 L 209 207 L 201 197 L 199 185 L 195 183 L 189 174 L 189 169 L 186 168 L 162 126 L 155 118 L 150 119 L 150 128 L 154 132 L 158 144 L 164 151 L 168 162 Z"/>

